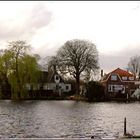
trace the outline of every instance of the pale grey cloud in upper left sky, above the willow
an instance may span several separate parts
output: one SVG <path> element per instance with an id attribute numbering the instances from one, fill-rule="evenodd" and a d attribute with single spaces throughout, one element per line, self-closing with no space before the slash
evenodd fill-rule
<path id="1" fill-rule="evenodd" d="M 25 8 L 26 9 L 26 8 Z M 29 39 L 36 31 L 51 22 L 52 13 L 43 4 L 37 4 L 27 13 L 22 23 L 11 24 L 14 21 L 0 21 L 0 40 Z M 18 20 L 18 17 L 17 17 Z"/>

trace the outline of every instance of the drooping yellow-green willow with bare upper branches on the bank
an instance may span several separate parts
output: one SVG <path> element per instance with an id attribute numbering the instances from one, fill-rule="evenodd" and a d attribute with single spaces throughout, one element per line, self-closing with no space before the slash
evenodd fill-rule
<path id="1" fill-rule="evenodd" d="M 31 54 L 26 41 L 11 41 L 7 49 L 0 51 L 1 97 L 11 99 L 27 98 L 26 83 L 36 82 L 38 55 Z"/>

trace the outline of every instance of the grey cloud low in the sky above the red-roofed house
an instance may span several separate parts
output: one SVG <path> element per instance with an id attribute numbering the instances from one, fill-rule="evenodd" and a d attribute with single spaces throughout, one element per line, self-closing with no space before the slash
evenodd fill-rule
<path id="1" fill-rule="evenodd" d="M 106 73 L 118 67 L 126 69 L 130 58 L 136 55 L 140 56 L 140 46 L 126 47 L 118 53 L 114 52 L 114 55 L 99 53 L 100 68 Z"/>

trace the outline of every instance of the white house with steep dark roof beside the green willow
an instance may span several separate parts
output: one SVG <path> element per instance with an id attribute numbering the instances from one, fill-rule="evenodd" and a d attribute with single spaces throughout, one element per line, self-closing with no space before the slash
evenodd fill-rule
<path id="1" fill-rule="evenodd" d="M 40 96 L 55 94 L 61 96 L 63 93 L 71 91 L 71 84 L 65 83 L 62 77 L 53 70 L 41 69 L 36 84 L 26 84 L 26 88 Z"/>

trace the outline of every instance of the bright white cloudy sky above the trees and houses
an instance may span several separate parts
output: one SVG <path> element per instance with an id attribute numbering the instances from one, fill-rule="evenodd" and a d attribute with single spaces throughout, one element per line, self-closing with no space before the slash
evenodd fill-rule
<path id="1" fill-rule="evenodd" d="M 139 1 L 0 1 L 0 48 L 26 40 L 42 57 L 67 40 L 87 39 L 107 73 L 140 54 Z"/>

